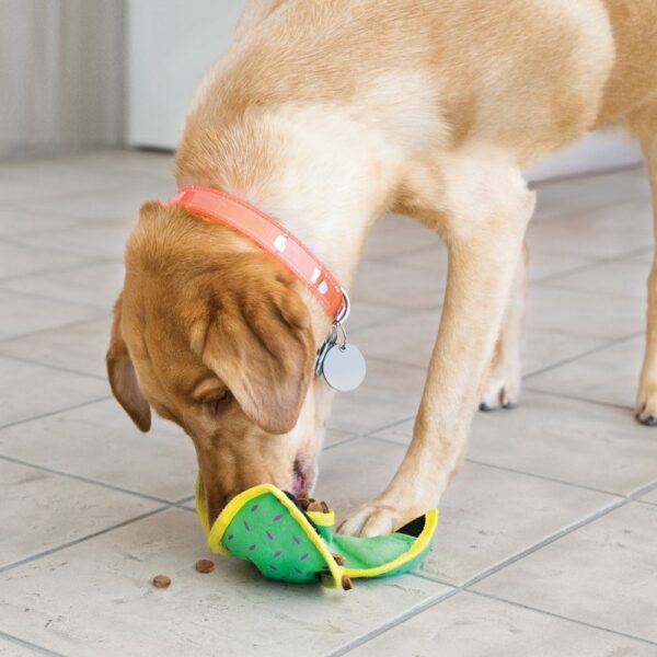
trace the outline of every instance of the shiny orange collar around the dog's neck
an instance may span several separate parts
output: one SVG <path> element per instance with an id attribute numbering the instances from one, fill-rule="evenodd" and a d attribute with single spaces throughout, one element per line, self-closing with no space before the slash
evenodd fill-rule
<path id="1" fill-rule="evenodd" d="M 212 187 L 183 187 L 170 200 L 206 221 L 226 226 L 279 260 L 336 321 L 348 312 L 348 297 L 328 269 L 276 219 Z"/>

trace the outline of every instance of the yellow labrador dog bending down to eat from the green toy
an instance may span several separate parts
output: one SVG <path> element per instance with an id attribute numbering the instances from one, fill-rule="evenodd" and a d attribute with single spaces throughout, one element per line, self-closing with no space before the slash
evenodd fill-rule
<path id="1" fill-rule="evenodd" d="M 372 223 L 417 218 L 449 251 L 413 441 L 346 532 L 435 506 L 473 413 L 518 397 L 522 171 L 599 126 L 641 140 L 657 187 L 655 0 L 251 0 L 206 76 L 176 157 L 181 187 L 278 219 L 348 289 Z M 438 273 L 437 273 L 438 275 Z M 657 422 L 657 268 L 637 401 Z M 276 258 L 185 208 L 147 203 L 126 250 L 107 367 L 142 430 L 192 437 L 210 521 L 246 487 L 312 489 L 332 392 L 330 328 Z"/>

